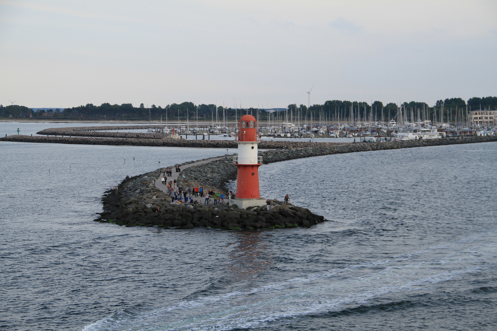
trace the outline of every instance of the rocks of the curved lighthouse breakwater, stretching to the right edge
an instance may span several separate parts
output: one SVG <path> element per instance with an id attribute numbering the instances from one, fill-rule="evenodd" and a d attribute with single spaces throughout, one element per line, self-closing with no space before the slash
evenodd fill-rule
<path id="1" fill-rule="evenodd" d="M 497 141 L 497 136 L 465 137 L 458 139 L 407 140 L 376 143 L 349 143 L 339 146 L 316 146 L 269 150 L 260 152 L 264 163 L 280 162 L 311 156 L 372 151 L 381 149 L 412 148 L 460 143 Z M 191 164 L 191 161 L 184 165 Z M 211 162 L 191 166 L 181 174 L 178 186 L 203 187 L 226 194 L 226 184 L 236 179 L 237 168 L 232 156 L 213 158 Z M 313 214 L 309 209 L 281 201 L 271 200 L 269 211 L 253 206 L 238 209 L 233 206 L 193 205 L 171 203 L 169 195 L 156 186 L 160 170 L 132 178 L 127 177 L 117 189 L 105 192 L 102 197 L 104 211 L 95 221 L 111 222 L 126 226 L 161 226 L 166 228 L 191 229 L 214 227 L 220 229 L 273 229 L 296 226 L 310 227 L 325 221 L 323 216 Z"/>

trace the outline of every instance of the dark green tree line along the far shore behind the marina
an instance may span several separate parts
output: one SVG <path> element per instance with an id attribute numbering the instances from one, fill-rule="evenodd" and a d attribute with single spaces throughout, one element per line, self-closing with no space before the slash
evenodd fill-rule
<path id="1" fill-rule="evenodd" d="M 217 107 L 217 112 L 216 112 Z M 410 112 L 413 110 L 414 119 L 418 116 L 416 114 L 423 114 L 423 118 L 426 120 L 432 120 L 433 116 L 444 115 L 444 118 L 449 118 L 452 114 L 456 114 L 456 109 L 468 112 L 470 110 L 477 109 L 496 109 L 497 108 L 497 97 L 473 97 L 467 102 L 462 98 L 450 98 L 445 100 L 437 100 L 434 106 L 428 106 L 425 102 L 404 102 L 401 105 L 396 103 L 387 103 L 384 105 L 381 101 L 374 101 L 371 104 L 367 102 L 358 101 L 347 101 L 347 100 L 330 100 L 326 101 L 324 104 L 315 104 L 309 108 L 306 105 L 290 104 L 286 110 L 268 110 L 268 109 L 257 109 L 257 108 L 223 108 L 223 106 L 216 106 L 214 104 L 200 104 L 195 105 L 192 102 L 183 102 L 180 104 L 172 103 L 166 105 L 165 107 L 152 105 L 150 107 L 145 107 L 144 104 L 140 104 L 138 107 L 134 107 L 131 103 L 124 103 L 121 105 L 111 105 L 110 103 L 103 103 L 100 106 L 95 106 L 93 104 L 86 104 L 85 106 L 78 106 L 65 109 L 39 109 L 34 111 L 25 106 L 10 105 L 2 106 L 0 105 L 0 117 L 12 117 L 12 118 L 29 118 L 32 119 L 42 119 L 46 117 L 52 117 L 54 119 L 112 119 L 112 120 L 148 120 L 149 116 L 152 120 L 157 121 L 162 120 L 164 123 L 175 122 L 178 119 L 180 121 L 189 120 L 191 122 L 195 121 L 205 121 L 205 122 L 222 122 L 223 117 L 229 121 L 235 120 L 235 118 L 240 118 L 240 115 L 246 113 L 258 117 L 259 121 L 276 121 L 282 122 L 286 120 L 288 116 L 288 121 L 292 122 L 303 122 L 309 123 L 311 119 L 314 122 L 317 121 L 347 121 L 351 118 L 357 120 L 368 119 L 370 122 L 374 120 L 384 120 L 394 119 L 398 111 L 402 107 L 404 111 Z M 419 113 L 417 113 L 419 111 Z M 466 114 L 462 114 L 466 116 Z"/>

